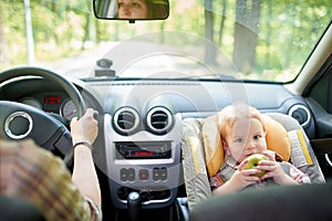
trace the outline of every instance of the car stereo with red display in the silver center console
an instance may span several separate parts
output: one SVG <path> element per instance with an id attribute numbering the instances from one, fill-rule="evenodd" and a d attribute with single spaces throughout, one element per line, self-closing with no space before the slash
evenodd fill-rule
<path id="1" fill-rule="evenodd" d="M 116 159 L 169 159 L 170 141 L 115 143 Z"/>

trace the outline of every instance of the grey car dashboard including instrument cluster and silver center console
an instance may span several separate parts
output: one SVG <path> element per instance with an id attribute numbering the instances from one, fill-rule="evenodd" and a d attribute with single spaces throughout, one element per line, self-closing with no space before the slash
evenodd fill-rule
<path id="1" fill-rule="evenodd" d="M 180 147 L 185 118 L 204 118 L 243 101 L 262 113 L 293 116 L 309 137 L 315 133 L 304 98 L 281 84 L 131 78 L 73 83 L 86 107 L 98 112 L 100 134 L 93 156 L 103 177 L 103 201 L 116 209 L 126 209 L 128 194 L 135 191 L 145 209 L 166 208 L 185 196 Z M 52 113 L 68 127 L 75 117 L 69 95 L 44 78 L 14 80 L 2 86 L 0 96 Z"/>

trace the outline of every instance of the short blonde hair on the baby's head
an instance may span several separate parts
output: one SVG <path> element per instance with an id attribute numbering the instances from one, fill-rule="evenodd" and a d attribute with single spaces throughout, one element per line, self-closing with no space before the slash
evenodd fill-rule
<path id="1" fill-rule="evenodd" d="M 237 120 L 249 120 L 256 118 L 262 124 L 263 131 L 266 131 L 264 124 L 260 112 L 245 103 L 235 103 L 226 106 L 218 113 L 218 129 L 221 139 L 226 140 L 227 136 L 232 133 L 234 124 Z"/>

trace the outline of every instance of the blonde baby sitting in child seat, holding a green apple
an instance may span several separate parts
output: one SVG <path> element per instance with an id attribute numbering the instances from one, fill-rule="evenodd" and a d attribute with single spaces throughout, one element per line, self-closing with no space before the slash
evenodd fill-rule
<path id="1" fill-rule="evenodd" d="M 225 150 L 220 170 L 210 178 L 214 194 L 230 193 L 248 187 L 260 188 L 269 183 L 300 185 L 309 177 L 293 165 L 277 161 L 278 154 L 268 150 L 266 127 L 258 109 L 243 103 L 229 105 L 218 113 L 218 129 Z M 245 169 L 248 157 L 262 154 L 256 168 Z M 264 171 L 261 177 L 258 176 Z"/>

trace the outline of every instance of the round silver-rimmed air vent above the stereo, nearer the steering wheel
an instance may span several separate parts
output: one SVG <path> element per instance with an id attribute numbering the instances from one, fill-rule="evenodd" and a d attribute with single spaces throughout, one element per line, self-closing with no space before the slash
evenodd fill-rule
<path id="1" fill-rule="evenodd" d="M 113 117 L 113 125 L 121 134 L 131 134 L 135 131 L 139 124 L 138 113 L 132 107 L 122 107 L 117 109 Z"/>

